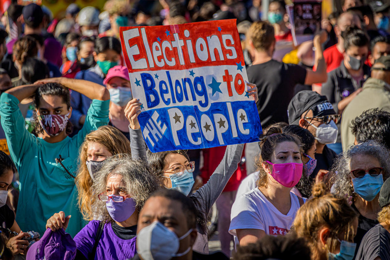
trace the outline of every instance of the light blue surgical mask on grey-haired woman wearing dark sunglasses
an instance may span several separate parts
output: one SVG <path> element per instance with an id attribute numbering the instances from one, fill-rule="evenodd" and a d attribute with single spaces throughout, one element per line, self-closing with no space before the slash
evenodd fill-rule
<path id="1" fill-rule="evenodd" d="M 364 175 L 362 178 L 352 179 L 353 190 L 363 199 L 372 201 L 378 195 L 383 185 L 383 176 Z"/>

